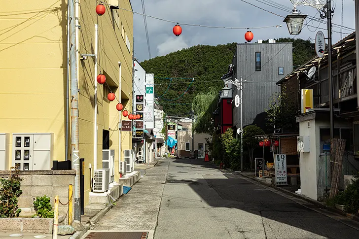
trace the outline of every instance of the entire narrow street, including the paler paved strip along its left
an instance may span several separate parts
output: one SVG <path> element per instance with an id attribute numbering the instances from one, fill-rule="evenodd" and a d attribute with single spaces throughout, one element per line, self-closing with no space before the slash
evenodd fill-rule
<path id="1" fill-rule="evenodd" d="M 358 228 L 202 160 L 162 159 L 92 232 L 141 231 L 154 239 L 355 239 Z"/>

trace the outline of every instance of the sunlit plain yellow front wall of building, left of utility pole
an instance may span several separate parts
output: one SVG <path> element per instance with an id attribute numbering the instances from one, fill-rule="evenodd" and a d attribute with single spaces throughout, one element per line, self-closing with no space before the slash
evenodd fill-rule
<path id="1" fill-rule="evenodd" d="M 0 10 L 0 132 L 53 133 L 54 160 L 65 159 L 67 4 L 12 0 Z"/>

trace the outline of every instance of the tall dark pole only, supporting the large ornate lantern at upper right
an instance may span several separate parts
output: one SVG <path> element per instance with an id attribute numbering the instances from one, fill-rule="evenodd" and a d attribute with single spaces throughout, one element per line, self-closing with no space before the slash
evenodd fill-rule
<path id="1" fill-rule="evenodd" d="M 332 60 L 331 60 L 331 2 L 326 0 L 326 19 L 328 30 L 328 80 L 329 80 L 329 117 L 330 117 L 330 138 L 334 138 L 334 102 L 333 102 L 333 77 L 332 77 Z"/>

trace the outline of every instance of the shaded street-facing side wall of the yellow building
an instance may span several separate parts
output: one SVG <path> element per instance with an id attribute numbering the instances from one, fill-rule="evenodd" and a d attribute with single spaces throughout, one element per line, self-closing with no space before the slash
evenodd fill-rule
<path id="1" fill-rule="evenodd" d="M 96 168 L 102 169 L 103 130 L 108 130 L 110 135 L 109 148 L 115 150 L 115 180 L 118 180 L 119 160 L 121 158 L 123 161 L 123 150 L 131 149 L 132 147 L 132 133 L 122 132 L 122 157 L 119 157 L 118 123 L 121 112 L 116 109 L 116 104 L 122 99 L 124 108 L 127 108 L 130 112 L 132 111 L 133 13 L 120 9 L 111 10 L 105 4 L 106 13 L 98 16 L 95 11 L 96 5 L 96 1 L 81 1 L 80 3 L 79 24 L 81 28 L 79 31 L 79 53 L 94 54 L 95 24 L 97 24 L 99 37 L 98 73 L 101 72 L 106 75 L 106 83 L 104 85 L 97 85 L 98 140 Z M 129 0 L 119 0 L 119 5 L 122 8 L 132 9 Z M 118 17 L 114 18 L 113 14 L 118 14 Z M 131 51 L 126 46 L 126 37 L 123 37 L 121 23 L 131 42 Z M 87 60 L 79 61 L 79 146 L 80 157 L 85 158 L 86 205 L 91 191 L 89 164 L 94 164 L 94 81 L 96 78 L 94 60 L 91 57 L 87 57 Z M 121 89 L 119 89 L 120 86 Z M 107 93 L 109 91 L 116 95 L 116 99 L 113 102 L 107 100 Z"/>

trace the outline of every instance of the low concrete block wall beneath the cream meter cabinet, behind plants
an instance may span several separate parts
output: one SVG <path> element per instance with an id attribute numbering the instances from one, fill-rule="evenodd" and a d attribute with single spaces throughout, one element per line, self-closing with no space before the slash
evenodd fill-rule
<path id="1" fill-rule="evenodd" d="M 10 171 L 0 171 L 0 177 L 8 177 Z M 59 196 L 60 202 L 67 204 L 69 202 L 69 185 L 75 182 L 74 170 L 45 170 L 45 171 L 20 171 L 22 195 L 19 198 L 19 207 L 21 216 L 34 215 L 35 209 L 33 202 L 36 197 L 46 195 L 50 197 L 51 204 L 54 206 L 55 196 Z M 72 198 L 72 211 L 74 207 Z M 59 222 L 68 222 L 68 205 L 59 204 Z"/>

